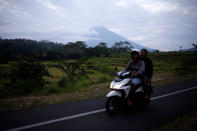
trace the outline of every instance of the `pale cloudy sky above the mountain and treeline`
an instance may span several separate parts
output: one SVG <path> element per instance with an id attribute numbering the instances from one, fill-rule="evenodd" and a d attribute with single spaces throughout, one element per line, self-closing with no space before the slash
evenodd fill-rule
<path id="1" fill-rule="evenodd" d="M 0 37 L 86 40 L 105 26 L 159 50 L 197 43 L 197 0 L 0 0 Z"/>

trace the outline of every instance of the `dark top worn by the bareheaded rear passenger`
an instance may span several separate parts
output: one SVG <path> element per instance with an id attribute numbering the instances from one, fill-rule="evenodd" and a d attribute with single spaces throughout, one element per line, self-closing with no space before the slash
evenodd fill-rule
<path id="1" fill-rule="evenodd" d="M 145 63 L 144 75 L 147 75 L 149 79 L 153 76 L 153 63 L 148 57 L 140 58 Z"/>

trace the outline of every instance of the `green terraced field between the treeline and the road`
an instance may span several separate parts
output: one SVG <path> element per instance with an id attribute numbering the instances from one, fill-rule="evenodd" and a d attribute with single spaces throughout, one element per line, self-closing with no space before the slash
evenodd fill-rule
<path id="1" fill-rule="evenodd" d="M 163 86 L 197 78 L 197 52 L 151 53 L 154 75 L 153 85 Z M 0 80 L 0 111 L 21 109 L 65 101 L 82 100 L 104 96 L 109 91 L 110 81 L 115 77 L 114 68 L 124 69 L 130 61 L 129 54 L 116 57 L 92 57 L 83 66 L 87 77 L 60 87 L 59 83 L 67 74 L 58 66 L 65 68 L 67 61 L 42 61 L 52 77 L 44 77 L 48 81 L 41 89 L 31 94 L 17 95 L 5 88 L 6 78 Z M 16 62 L 0 64 L 0 73 L 9 72 Z"/>

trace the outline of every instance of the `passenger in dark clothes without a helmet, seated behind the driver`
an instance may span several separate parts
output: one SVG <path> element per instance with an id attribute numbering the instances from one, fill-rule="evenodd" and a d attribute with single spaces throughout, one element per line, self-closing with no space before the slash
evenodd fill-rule
<path id="1" fill-rule="evenodd" d="M 143 87 L 145 90 L 145 98 L 149 99 L 149 85 L 151 84 L 151 79 L 153 76 L 153 63 L 152 61 L 147 57 L 147 50 L 146 49 L 141 49 L 140 50 L 140 59 L 144 61 L 145 63 L 145 72 L 144 76 L 142 78 L 143 80 Z"/>

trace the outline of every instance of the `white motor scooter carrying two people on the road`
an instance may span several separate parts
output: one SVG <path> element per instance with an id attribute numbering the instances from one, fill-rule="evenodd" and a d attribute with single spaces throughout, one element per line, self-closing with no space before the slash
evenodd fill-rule
<path id="1" fill-rule="evenodd" d="M 116 114 L 120 111 L 121 107 L 129 106 L 128 99 L 131 100 L 132 105 L 147 106 L 150 99 L 145 99 L 144 88 L 142 84 L 131 90 L 131 73 L 126 70 L 117 73 L 111 84 L 111 91 L 106 95 L 106 111 L 110 114 Z M 131 91 L 130 91 L 131 90 Z M 150 86 L 149 98 L 152 93 L 152 86 Z"/>

